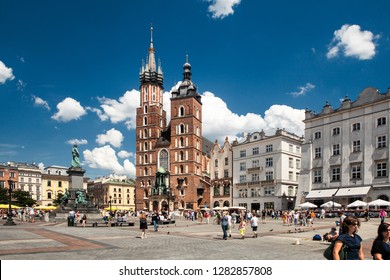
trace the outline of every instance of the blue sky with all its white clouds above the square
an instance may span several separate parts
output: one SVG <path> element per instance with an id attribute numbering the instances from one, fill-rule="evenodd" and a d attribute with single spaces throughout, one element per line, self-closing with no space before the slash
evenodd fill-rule
<path id="1" fill-rule="evenodd" d="M 0 162 L 70 166 L 77 143 L 86 176 L 133 176 L 151 23 L 164 98 L 188 54 L 209 140 L 302 135 L 305 108 L 390 86 L 389 11 L 385 0 L 3 0 Z"/>

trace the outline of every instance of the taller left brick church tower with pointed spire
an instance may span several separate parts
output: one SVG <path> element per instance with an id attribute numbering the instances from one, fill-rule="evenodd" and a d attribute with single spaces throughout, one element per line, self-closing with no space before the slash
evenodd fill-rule
<path id="1" fill-rule="evenodd" d="M 140 107 L 136 114 L 136 202 L 137 210 L 149 208 L 148 197 L 157 172 L 156 143 L 166 128 L 163 110 L 163 72 L 156 65 L 153 46 L 153 27 L 150 29 L 150 47 L 146 64 L 140 71 Z"/>

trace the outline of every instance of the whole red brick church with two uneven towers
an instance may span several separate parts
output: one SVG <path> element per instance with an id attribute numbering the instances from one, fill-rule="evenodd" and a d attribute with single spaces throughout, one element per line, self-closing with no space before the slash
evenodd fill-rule
<path id="1" fill-rule="evenodd" d="M 210 150 L 202 137 L 202 102 L 191 80 L 188 56 L 183 81 L 172 91 L 171 120 L 163 104 L 163 72 L 156 64 L 153 28 L 140 71 L 136 113 L 136 210 L 210 207 Z"/>

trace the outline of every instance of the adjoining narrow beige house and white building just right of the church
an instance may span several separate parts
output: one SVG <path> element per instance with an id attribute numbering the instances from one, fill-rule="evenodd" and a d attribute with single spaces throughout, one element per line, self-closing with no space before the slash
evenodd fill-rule
<path id="1" fill-rule="evenodd" d="M 240 206 L 250 211 L 293 208 L 301 167 L 303 139 L 283 129 L 267 136 L 247 134 L 243 141 L 211 153 L 212 207 Z"/>

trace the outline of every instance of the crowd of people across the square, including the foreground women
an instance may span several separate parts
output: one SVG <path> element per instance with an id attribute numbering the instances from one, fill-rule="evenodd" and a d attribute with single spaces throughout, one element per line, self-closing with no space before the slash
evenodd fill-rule
<path id="1" fill-rule="evenodd" d="M 368 211 L 366 211 L 368 212 Z M 46 213 L 44 210 L 34 209 L 32 207 L 23 207 L 19 209 L 12 209 L 12 216 L 20 221 L 27 221 L 34 223 L 36 217 L 41 217 Z M 0 210 L 1 216 L 4 218 L 8 215 L 7 209 Z M 320 215 L 312 210 L 286 210 L 286 211 L 245 211 L 245 210 L 233 210 L 233 211 L 214 211 L 214 210 L 186 210 L 182 212 L 170 212 L 167 211 L 105 211 L 101 210 L 103 221 L 107 226 L 115 222 L 126 222 L 130 217 L 138 218 L 141 238 L 147 238 L 146 230 L 148 229 L 148 219 L 153 224 L 154 231 L 158 231 L 159 222 L 161 220 L 174 220 L 175 216 L 184 217 L 187 220 L 191 220 L 198 223 L 209 224 L 210 219 L 212 223 L 218 224 L 222 228 L 222 238 L 228 240 L 232 237 L 232 229 L 238 224 L 237 230 L 239 236 L 245 239 L 248 228 L 252 229 L 252 237 L 258 237 L 259 219 L 261 217 L 262 223 L 265 223 L 267 219 L 279 220 L 281 218 L 282 224 L 285 226 L 307 226 L 310 227 L 314 224 L 315 219 L 324 218 L 324 213 L 320 212 Z M 377 229 L 377 237 L 375 238 L 371 255 L 375 260 L 390 260 L 390 224 L 385 222 L 387 212 L 384 209 L 380 210 L 379 218 L 380 225 Z M 81 223 L 85 227 L 87 223 L 86 213 L 80 213 L 79 211 L 71 210 L 69 212 L 70 219 L 73 219 L 75 223 Z M 369 215 L 364 213 L 364 220 L 367 222 L 370 220 Z M 337 227 L 339 230 L 337 231 Z M 345 247 L 347 260 L 363 260 L 365 259 L 363 253 L 363 239 L 358 234 L 360 228 L 360 220 L 353 214 L 346 215 L 342 213 L 339 220 L 336 222 L 336 226 L 332 226 L 331 230 L 324 234 L 322 239 L 326 242 L 334 242 L 333 259 L 340 259 L 340 251 Z"/>

